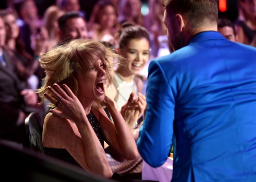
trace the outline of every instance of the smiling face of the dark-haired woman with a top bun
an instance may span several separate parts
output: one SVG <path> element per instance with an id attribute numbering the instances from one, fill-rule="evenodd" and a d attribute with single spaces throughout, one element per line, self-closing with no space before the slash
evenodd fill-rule
<path id="1" fill-rule="evenodd" d="M 123 76 L 138 75 L 149 59 L 149 48 L 150 45 L 146 38 L 131 39 L 121 50 L 122 56 L 128 60 L 122 62 L 124 69 L 120 74 Z"/>

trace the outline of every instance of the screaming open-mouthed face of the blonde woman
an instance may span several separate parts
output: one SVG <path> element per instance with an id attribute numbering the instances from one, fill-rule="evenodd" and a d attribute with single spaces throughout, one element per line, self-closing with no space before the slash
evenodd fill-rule
<path id="1" fill-rule="evenodd" d="M 100 59 L 91 65 L 86 75 L 78 70 L 77 77 L 80 85 L 80 95 L 83 99 L 87 101 L 104 100 L 106 71 L 104 70 L 104 63 Z"/>

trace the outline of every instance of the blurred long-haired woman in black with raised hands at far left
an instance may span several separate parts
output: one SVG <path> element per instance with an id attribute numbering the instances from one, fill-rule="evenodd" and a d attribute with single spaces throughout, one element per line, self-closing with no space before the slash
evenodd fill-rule
<path id="1" fill-rule="evenodd" d="M 48 36 L 42 32 L 38 35 L 39 39 L 35 42 L 34 55 L 30 55 L 20 39 L 20 29 L 17 24 L 15 13 L 11 10 L 1 10 L 0 16 L 4 18 L 6 24 L 6 51 L 15 57 L 14 65 L 17 74 L 22 81 L 28 82 L 30 88 L 37 89 L 39 82 L 44 77 L 44 70 L 39 65 L 39 55 L 45 52 L 48 47 Z"/>

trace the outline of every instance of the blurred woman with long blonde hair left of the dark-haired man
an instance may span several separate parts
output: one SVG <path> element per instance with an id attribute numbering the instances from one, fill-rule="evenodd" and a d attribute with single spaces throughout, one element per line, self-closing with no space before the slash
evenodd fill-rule
<path id="1" fill-rule="evenodd" d="M 64 14 L 64 11 L 59 9 L 58 6 L 50 6 L 45 10 L 43 15 L 42 26 L 48 31 L 49 48 L 53 48 L 59 44 L 59 26 L 58 19 Z"/>

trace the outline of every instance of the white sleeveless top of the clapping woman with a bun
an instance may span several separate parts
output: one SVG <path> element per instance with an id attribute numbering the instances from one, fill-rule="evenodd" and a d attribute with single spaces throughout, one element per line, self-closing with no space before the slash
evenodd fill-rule
<path id="1" fill-rule="evenodd" d="M 119 110 L 121 110 L 122 106 L 127 103 L 132 92 L 135 92 L 134 98 L 138 96 L 138 86 L 135 79 L 132 82 L 127 83 L 126 81 L 123 81 L 116 73 L 114 73 L 114 79 L 117 83 L 116 103 Z"/>

